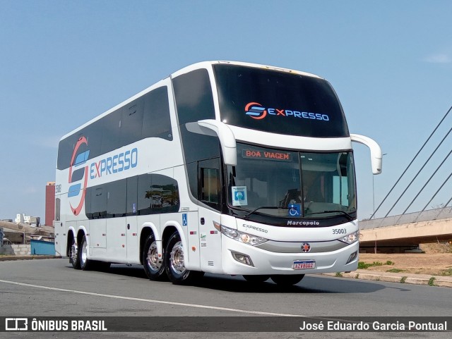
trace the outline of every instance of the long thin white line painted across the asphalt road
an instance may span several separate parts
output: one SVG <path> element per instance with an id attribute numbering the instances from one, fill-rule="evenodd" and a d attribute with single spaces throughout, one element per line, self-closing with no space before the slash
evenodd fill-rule
<path id="1" fill-rule="evenodd" d="M 8 284 L 12 284 L 12 285 L 26 286 L 26 287 L 30 287 L 30 288 L 41 288 L 42 290 L 54 290 L 54 291 L 59 291 L 59 292 L 78 293 L 81 295 L 95 295 L 96 297 L 107 297 L 107 298 L 121 299 L 121 300 L 133 300 L 136 302 L 152 302 L 154 304 L 169 304 L 169 305 L 175 305 L 175 306 L 196 307 L 198 309 L 217 309 L 219 311 L 229 311 L 229 312 L 246 313 L 246 314 L 258 314 L 258 315 L 262 315 L 262 316 L 303 316 L 300 314 L 249 311 L 246 309 L 231 309 L 228 307 L 208 306 L 208 305 L 200 305 L 200 304 L 186 304 L 184 302 L 165 302 L 163 300 L 124 297 L 121 295 L 105 295 L 103 293 L 86 292 L 86 291 L 78 291 L 78 290 L 67 290 L 66 288 L 51 288 L 49 286 L 41 286 L 41 285 L 34 285 L 34 284 L 28 284 L 28 283 L 18 283 L 16 281 L 0 280 L 0 283 L 8 283 Z"/>

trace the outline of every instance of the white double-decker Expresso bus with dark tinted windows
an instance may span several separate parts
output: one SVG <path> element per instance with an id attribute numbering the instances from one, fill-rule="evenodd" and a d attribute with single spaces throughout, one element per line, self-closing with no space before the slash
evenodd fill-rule
<path id="1" fill-rule="evenodd" d="M 59 142 L 55 245 L 75 269 L 142 264 L 298 283 L 357 269 L 352 142 L 324 79 L 210 61 L 173 73 Z"/>

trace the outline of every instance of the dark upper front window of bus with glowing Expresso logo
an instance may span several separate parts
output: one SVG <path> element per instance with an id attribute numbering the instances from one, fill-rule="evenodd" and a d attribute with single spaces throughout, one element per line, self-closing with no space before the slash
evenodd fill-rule
<path id="1" fill-rule="evenodd" d="M 323 79 L 283 71 L 214 65 L 221 120 L 304 137 L 348 137 L 345 116 Z"/>

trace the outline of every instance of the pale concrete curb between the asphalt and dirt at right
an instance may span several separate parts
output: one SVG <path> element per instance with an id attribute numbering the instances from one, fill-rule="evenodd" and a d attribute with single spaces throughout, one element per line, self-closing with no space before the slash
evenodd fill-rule
<path id="1" fill-rule="evenodd" d="M 437 287 L 452 288 L 452 276 L 429 276 L 427 274 L 415 273 L 386 273 L 371 272 L 362 269 L 350 273 L 321 273 L 324 276 L 336 278 L 352 278 L 369 281 L 385 281 L 388 283 L 408 283 L 413 285 L 432 285 Z"/>

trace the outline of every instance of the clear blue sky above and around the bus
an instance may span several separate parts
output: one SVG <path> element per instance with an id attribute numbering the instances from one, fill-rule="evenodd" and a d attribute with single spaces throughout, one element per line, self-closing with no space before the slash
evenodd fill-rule
<path id="1" fill-rule="evenodd" d="M 0 218 L 44 219 L 59 138 L 197 61 L 304 70 L 331 82 L 350 132 L 386 155 L 371 175 L 356 145 L 359 218 L 368 218 L 452 105 L 452 1 L 0 0 Z M 383 204 L 386 214 L 428 153 Z M 405 210 L 451 149 L 448 138 L 391 214 Z M 409 211 L 424 207 L 448 159 Z M 374 179 L 374 180 L 373 180 Z M 374 189 L 373 189 L 374 184 Z M 452 197 L 452 180 L 430 206 Z M 430 207 L 429 207 L 430 208 Z"/>

